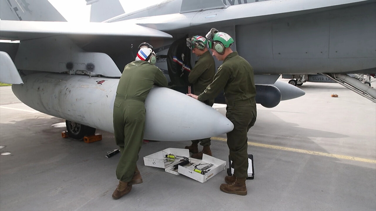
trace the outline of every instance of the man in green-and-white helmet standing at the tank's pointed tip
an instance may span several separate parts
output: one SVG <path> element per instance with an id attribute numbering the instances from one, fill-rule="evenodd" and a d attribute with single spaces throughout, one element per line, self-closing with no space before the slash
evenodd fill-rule
<path id="1" fill-rule="evenodd" d="M 188 94 L 199 101 L 205 101 L 218 95 L 224 89 L 226 99 L 226 117 L 233 123 L 234 129 L 227 133 L 227 146 L 234 165 L 234 174 L 226 176 L 226 184 L 220 190 L 226 193 L 246 195 L 248 169 L 247 132 L 256 122 L 256 88 L 253 69 L 250 64 L 232 51 L 233 39 L 216 29 L 206 35 L 213 56 L 223 60 L 214 76 L 214 81 L 199 95 Z"/>

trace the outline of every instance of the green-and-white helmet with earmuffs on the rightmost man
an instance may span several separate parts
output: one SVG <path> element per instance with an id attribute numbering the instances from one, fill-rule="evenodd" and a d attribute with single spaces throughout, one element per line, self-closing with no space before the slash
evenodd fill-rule
<path id="1" fill-rule="evenodd" d="M 212 28 L 207 34 L 208 48 L 213 48 L 217 53 L 224 54 L 224 50 L 233 44 L 234 40 L 230 35 L 224 32 L 218 32 Z"/>

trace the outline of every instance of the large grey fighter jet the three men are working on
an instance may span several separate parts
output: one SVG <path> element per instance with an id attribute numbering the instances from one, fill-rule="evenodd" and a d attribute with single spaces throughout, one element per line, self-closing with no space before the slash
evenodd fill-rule
<path id="1" fill-rule="evenodd" d="M 232 49 L 253 66 L 256 102 L 265 107 L 274 107 L 281 100 L 304 94 L 297 87 L 277 81 L 280 74 L 322 73 L 341 78 L 342 73 L 373 73 L 376 69 L 375 0 L 252 3 L 244 0 L 237 1 L 238 5 L 229 0 L 166 0 L 124 14 L 119 14 L 121 10 L 109 14 L 111 9 L 101 5 L 106 2 L 111 6 L 109 2 L 118 3 L 117 0 L 87 0 L 92 4 L 91 16 L 101 22 L 85 24 L 54 20 L 51 15 L 48 15 L 49 21 L 41 22 L 41 14 L 45 13 L 40 12 L 40 7 L 38 10 L 33 6 L 38 1 L 27 3 L 27 11 L 16 2 L 0 1 L 0 38 L 20 40 L 20 44 L 0 46 L 3 51 L 0 54 L 0 81 L 13 83 L 15 95 L 30 107 L 67 119 L 67 127 L 72 131 L 80 131 L 81 126 L 112 131 L 117 78 L 124 65 L 134 59 L 136 49 L 132 46 L 141 42 L 154 46 L 160 55 L 157 66 L 168 75 L 172 87 L 185 92 L 180 88 L 186 87 L 185 76 L 196 60 L 186 48 L 185 38 L 205 35 L 213 27 L 232 36 L 235 40 Z M 39 14 L 39 18 L 33 19 L 32 13 Z M 55 14 L 55 11 L 47 13 Z M 359 89 L 364 95 L 376 98 L 376 90 L 368 86 Z M 155 93 L 159 90 L 155 89 Z M 150 99 L 153 95 L 150 93 Z M 188 117 L 185 109 L 197 105 L 179 104 L 161 113 L 165 105 L 185 101 L 185 98 L 167 98 L 168 102 L 162 104 L 160 99 L 159 102 L 158 98 L 154 99 L 156 101 L 147 104 L 147 109 L 153 108 L 147 111 L 148 116 L 158 113 L 161 116 L 149 123 L 146 120 L 147 139 L 198 138 L 183 131 L 188 131 L 187 128 L 196 131 L 200 125 L 192 119 L 208 112 L 200 110 L 196 111 L 198 116 Z M 223 103 L 223 97 L 219 96 L 217 102 Z M 171 123 L 168 127 L 173 129 L 170 131 L 159 131 L 158 125 L 163 124 L 158 120 L 163 117 Z M 183 125 L 182 122 L 190 124 Z M 214 131 L 218 122 L 223 122 L 223 127 Z M 213 125 L 215 127 L 205 128 L 211 131 L 210 136 L 232 130 L 226 119 Z M 199 136 L 209 137 L 208 133 L 202 133 L 205 131 L 201 130 Z M 175 136 L 169 136 L 171 134 Z M 157 135 L 161 136 L 157 138 Z"/>

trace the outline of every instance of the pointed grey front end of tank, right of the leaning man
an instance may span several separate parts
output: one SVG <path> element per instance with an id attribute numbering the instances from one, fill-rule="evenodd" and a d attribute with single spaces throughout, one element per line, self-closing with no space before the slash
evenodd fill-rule
<path id="1" fill-rule="evenodd" d="M 233 130 L 232 122 L 217 110 L 171 89 L 154 87 L 145 107 L 144 139 L 197 140 Z"/>

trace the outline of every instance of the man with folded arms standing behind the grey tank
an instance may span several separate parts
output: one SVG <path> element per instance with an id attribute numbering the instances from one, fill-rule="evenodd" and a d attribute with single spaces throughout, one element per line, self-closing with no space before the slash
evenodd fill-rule
<path id="1" fill-rule="evenodd" d="M 193 84 L 193 93 L 195 95 L 199 95 L 209 84 L 213 82 L 215 75 L 215 62 L 211 52 L 206 47 L 208 42 L 206 41 L 205 37 L 193 36 L 191 38 L 187 38 L 186 41 L 187 46 L 192 49 L 192 53 L 200 57 L 188 75 L 189 83 Z M 208 99 L 208 101 L 205 103 L 212 106 L 214 104 L 214 98 Z M 203 146 L 201 152 L 199 152 L 198 149 L 199 142 L 200 145 Z M 210 150 L 210 138 L 192 140 L 192 145 L 185 146 L 185 149 L 189 149 L 189 151 L 193 153 L 191 157 L 196 159 L 202 159 L 202 154 L 212 156 Z"/>

